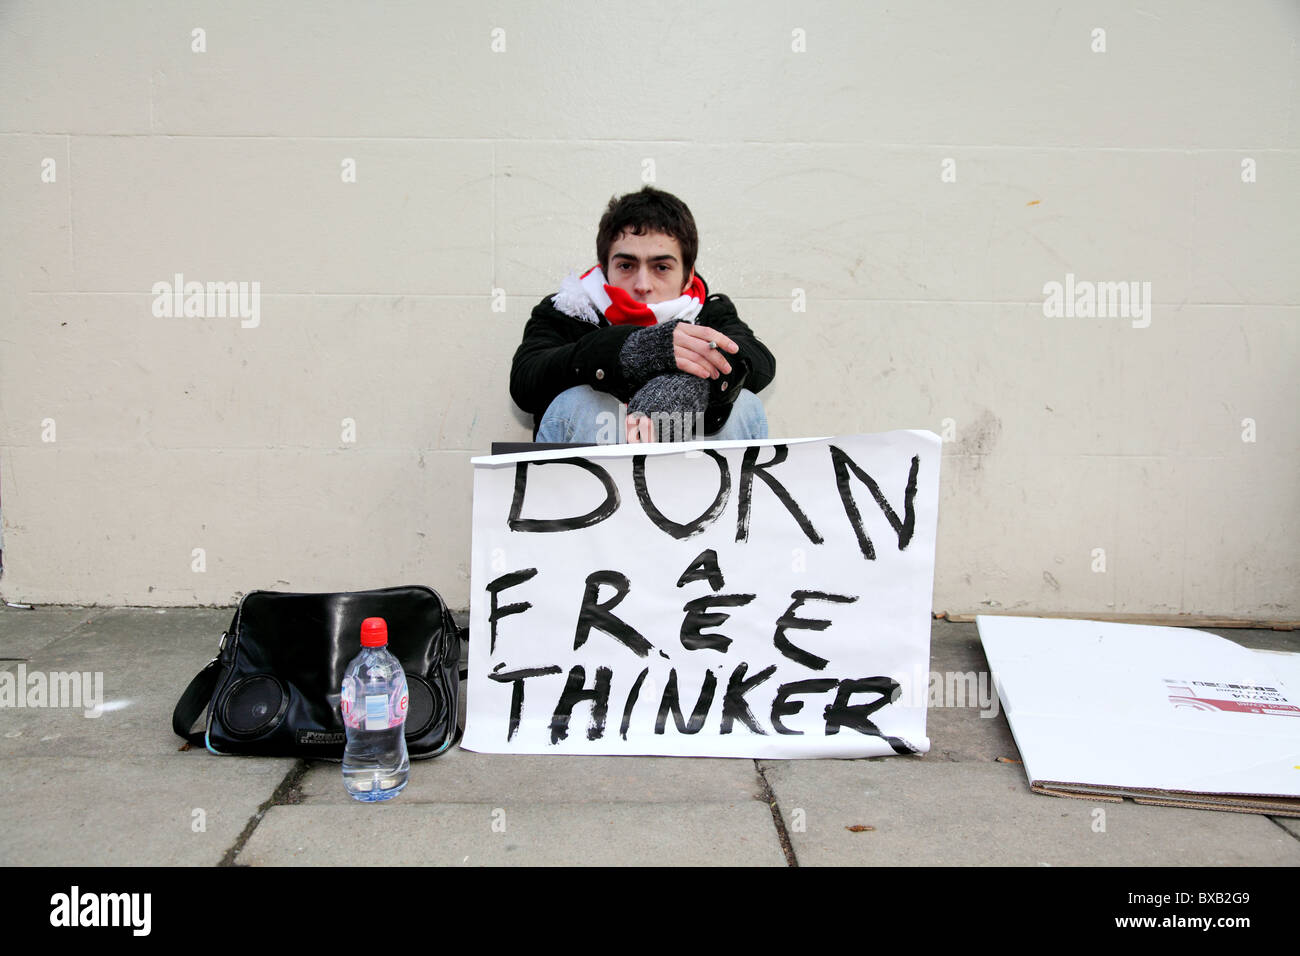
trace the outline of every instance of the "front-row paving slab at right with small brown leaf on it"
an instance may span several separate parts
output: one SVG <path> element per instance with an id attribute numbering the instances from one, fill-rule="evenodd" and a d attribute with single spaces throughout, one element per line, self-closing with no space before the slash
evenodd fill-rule
<path id="1" fill-rule="evenodd" d="M 1015 763 L 762 766 L 800 866 L 1300 865 L 1300 840 L 1268 817 L 1043 796 Z"/>

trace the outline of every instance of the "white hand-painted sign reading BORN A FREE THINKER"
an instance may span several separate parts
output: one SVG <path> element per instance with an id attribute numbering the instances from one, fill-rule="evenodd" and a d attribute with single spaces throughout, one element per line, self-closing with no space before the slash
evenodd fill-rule
<path id="1" fill-rule="evenodd" d="M 473 459 L 462 745 L 924 753 L 939 460 L 920 431 Z"/>

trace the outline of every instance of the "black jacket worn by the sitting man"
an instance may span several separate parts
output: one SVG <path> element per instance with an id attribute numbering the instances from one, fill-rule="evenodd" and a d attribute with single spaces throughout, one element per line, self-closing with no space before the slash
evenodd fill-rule
<path id="1" fill-rule="evenodd" d="M 701 278 L 703 282 L 703 278 Z M 711 378 L 705 432 L 723 427 L 731 415 L 731 403 L 742 388 L 759 392 L 776 376 L 776 359 L 750 328 L 736 315 L 736 306 L 720 293 L 707 294 L 696 317 L 697 325 L 718 329 L 740 346 L 727 354 L 732 371 Z M 628 402 L 644 382 L 624 376 L 619 351 L 624 341 L 641 325 L 610 325 L 602 316 L 601 325 L 564 315 L 547 295 L 533 308 L 524 325 L 524 341 L 515 350 L 510 369 L 510 395 L 524 411 L 533 415 L 533 434 L 558 394 L 575 385 L 590 385 Z"/>

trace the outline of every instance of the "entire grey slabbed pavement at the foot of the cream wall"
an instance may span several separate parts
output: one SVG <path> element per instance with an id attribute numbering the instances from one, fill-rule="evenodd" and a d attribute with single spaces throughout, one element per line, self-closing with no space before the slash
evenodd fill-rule
<path id="1" fill-rule="evenodd" d="M 0 646 L 14 648 L 0 657 L 27 658 L 29 672 L 100 672 L 117 705 L 98 718 L 0 709 L 0 864 L 212 865 L 235 845 L 298 763 L 178 752 L 172 708 L 231 613 L 0 609 Z M 1225 636 L 1274 649 L 1296 640 Z M 1018 753 L 1000 708 L 980 715 L 988 667 L 974 624 L 935 623 L 931 669 L 971 678 L 953 689 L 976 693 L 945 688 L 928 756 L 762 763 L 801 865 L 1300 862 L 1300 821 L 1031 793 L 1022 765 L 993 762 Z M 374 839 L 399 862 L 784 865 L 763 792 L 749 760 L 456 749 L 413 763 L 393 804 L 367 806 L 347 797 L 338 763 L 315 762 L 237 862 L 355 862 Z M 854 823 L 876 829 L 844 829 Z"/>

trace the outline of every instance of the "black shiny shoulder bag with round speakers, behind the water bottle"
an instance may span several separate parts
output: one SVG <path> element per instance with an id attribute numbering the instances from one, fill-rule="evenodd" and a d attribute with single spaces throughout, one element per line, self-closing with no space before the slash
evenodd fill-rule
<path id="1" fill-rule="evenodd" d="M 361 650 L 361 622 L 384 618 L 406 671 L 407 750 L 437 757 L 460 739 L 462 628 L 432 588 L 335 594 L 254 591 L 190 682 L 172 728 L 217 754 L 342 760 L 343 671 Z M 207 710 L 203 730 L 191 730 Z"/>

